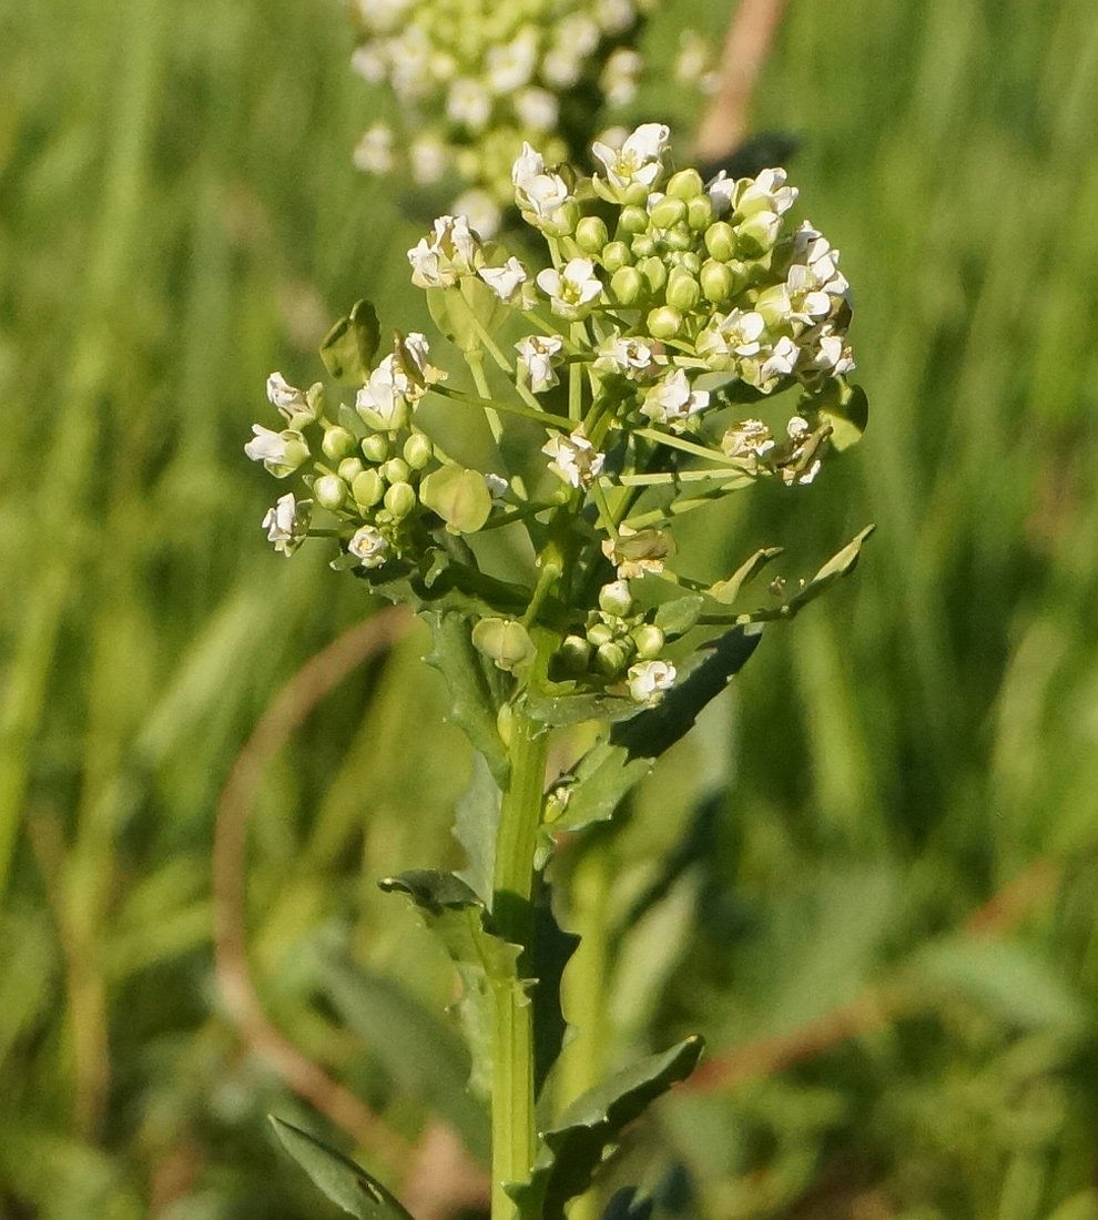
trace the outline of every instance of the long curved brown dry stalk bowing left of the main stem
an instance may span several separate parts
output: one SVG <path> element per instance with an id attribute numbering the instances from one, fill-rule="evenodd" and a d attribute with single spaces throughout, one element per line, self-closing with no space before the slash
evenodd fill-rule
<path id="1" fill-rule="evenodd" d="M 283 1082 L 357 1144 L 392 1163 L 404 1163 L 410 1148 L 360 1098 L 344 1088 L 274 1026 L 260 1003 L 248 966 L 245 870 L 248 817 L 264 769 L 312 709 L 364 661 L 401 639 L 412 616 L 382 610 L 311 658 L 278 692 L 229 772 L 214 826 L 214 961 L 226 1010 L 244 1041 Z"/>

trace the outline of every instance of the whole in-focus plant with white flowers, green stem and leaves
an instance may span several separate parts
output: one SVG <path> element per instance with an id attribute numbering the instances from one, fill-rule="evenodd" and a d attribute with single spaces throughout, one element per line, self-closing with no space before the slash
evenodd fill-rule
<path id="1" fill-rule="evenodd" d="M 761 604 L 745 590 L 777 548 L 715 583 L 678 570 L 678 517 L 760 479 L 800 494 L 858 439 L 865 399 L 847 381 L 838 253 L 793 223 L 784 172 L 705 183 L 672 172 L 669 138 L 647 123 L 616 148 L 597 143 L 590 177 L 523 145 L 511 181 L 544 243 L 538 271 L 462 216 L 439 217 L 409 251 L 465 386 L 418 332 L 395 334 L 375 364 L 381 328 L 360 303 L 322 349 L 354 404 L 274 373 L 267 396 L 285 428 L 256 426 L 246 445 L 309 488 L 264 520 L 278 550 L 328 537 L 333 567 L 431 621 L 454 716 L 483 758 L 477 815 L 459 826 L 467 869 L 383 884 L 420 908 L 461 974 L 490 1098 L 495 1220 L 562 1216 L 620 1127 L 700 1052 L 687 1039 L 536 1122 L 564 1037 L 562 961 L 545 969 L 543 953 L 562 937 L 542 900 L 555 844 L 609 819 L 762 625 L 850 571 L 869 533 Z M 490 456 L 459 460 L 448 438 L 478 426 Z M 547 792 L 550 733 L 578 721 L 598 741 Z M 406 1215 L 383 1202 L 355 1214 Z"/>

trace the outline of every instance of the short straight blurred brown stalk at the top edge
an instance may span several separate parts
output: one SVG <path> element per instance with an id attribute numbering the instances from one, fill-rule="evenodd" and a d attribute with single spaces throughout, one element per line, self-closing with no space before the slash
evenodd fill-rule
<path id="1" fill-rule="evenodd" d="M 694 137 L 694 156 L 719 161 L 733 152 L 747 134 L 752 94 L 770 55 L 788 0 L 741 0 L 728 26 L 716 89 Z"/>

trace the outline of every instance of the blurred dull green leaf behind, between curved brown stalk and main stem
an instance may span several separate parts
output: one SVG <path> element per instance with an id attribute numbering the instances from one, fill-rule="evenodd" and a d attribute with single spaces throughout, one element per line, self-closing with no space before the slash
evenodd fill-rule
<path id="1" fill-rule="evenodd" d="M 362 1036 L 401 1094 L 416 1098 L 445 1119 L 466 1148 L 487 1164 L 488 1114 L 466 1087 L 468 1050 L 453 1025 L 394 980 L 338 958 L 322 961 L 321 981 L 344 1022 Z"/>

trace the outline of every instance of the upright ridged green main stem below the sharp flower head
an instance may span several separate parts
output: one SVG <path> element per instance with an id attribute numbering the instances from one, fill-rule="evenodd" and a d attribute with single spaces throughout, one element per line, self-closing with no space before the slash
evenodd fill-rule
<path id="1" fill-rule="evenodd" d="M 503 797 L 495 844 L 493 917 L 521 946 L 515 976 L 494 985 L 492 1072 L 492 1220 L 511 1220 L 515 1204 L 504 1183 L 525 1182 L 537 1150 L 534 1127 L 533 1009 L 522 987 L 533 948 L 533 860 L 545 786 L 547 732 L 515 710 L 510 783 Z"/>

